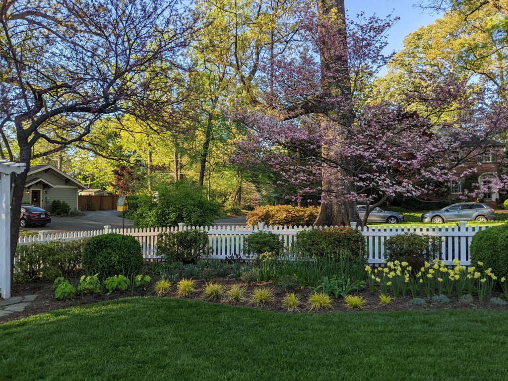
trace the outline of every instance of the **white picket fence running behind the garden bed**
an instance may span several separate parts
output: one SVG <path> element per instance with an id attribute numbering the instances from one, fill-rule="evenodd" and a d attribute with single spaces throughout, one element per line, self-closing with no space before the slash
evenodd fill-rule
<path id="1" fill-rule="evenodd" d="M 451 264 L 454 259 L 458 259 L 462 265 L 469 265 L 469 247 L 472 237 L 488 226 L 466 226 L 465 221 L 461 221 L 457 226 L 415 226 L 415 227 L 390 227 L 375 226 L 356 228 L 359 229 L 365 237 L 367 248 L 367 260 L 370 264 L 379 264 L 385 260 L 385 243 L 392 236 L 404 233 L 416 233 L 418 235 L 441 237 L 441 259 Z M 38 235 L 20 237 L 18 244 L 44 243 L 57 240 L 76 240 L 86 237 L 93 237 L 106 233 L 118 233 L 136 237 L 143 249 L 143 258 L 145 261 L 158 261 L 161 257 L 157 256 L 156 245 L 157 236 L 163 232 L 174 232 L 187 229 L 200 229 L 207 232 L 209 237 L 210 256 L 212 259 L 225 259 L 227 257 L 241 257 L 243 255 L 243 243 L 245 237 L 249 234 L 259 231 L 268 231 L 278 234 L 283 241 L 284 246 L 291 248 L 294 244 L 296 235 L 302 230 L 315 229 L 316 227 L 306 226 L 265 226 L 260 223 L 258 226 L 205 226 L 205 227 L 187 227 L 184 224 L 178 224 L 178 227 L 171 228 L 149 228 L 149 229 L 112 229 L 105 226 L 103 230 L 93 230 L 86 232 L 70 232 L 48 234 L 46 231 L 40 231 Z M 243 257 L 242 257 L 243 258 Z"/>

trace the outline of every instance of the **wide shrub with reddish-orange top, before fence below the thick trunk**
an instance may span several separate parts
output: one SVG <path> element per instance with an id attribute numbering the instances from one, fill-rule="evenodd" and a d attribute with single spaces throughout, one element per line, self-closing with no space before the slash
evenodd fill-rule
<path id="1" fill-rule="evenodd" d="M 365 260 L 365 238 L 350 227 L 303 230 L 296 235 L 293 252 L 299 257 Z"/>

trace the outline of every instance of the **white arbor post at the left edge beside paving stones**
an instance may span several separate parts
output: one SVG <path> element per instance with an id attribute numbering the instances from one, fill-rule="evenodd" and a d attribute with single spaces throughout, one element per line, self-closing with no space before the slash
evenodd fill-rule
<path id="1" fill-rule="evenodd" d="M 0 161 L 0 292 L 4 299 L 11 297 L 11 173 L 24 169 L 24 164 Z"/>

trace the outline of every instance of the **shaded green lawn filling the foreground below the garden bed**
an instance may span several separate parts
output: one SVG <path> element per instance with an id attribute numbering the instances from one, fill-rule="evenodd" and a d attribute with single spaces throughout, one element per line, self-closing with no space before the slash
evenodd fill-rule
<path id="1" fill-rule="evenodd" d="M 120 299 L 0 325 L 0 379 L 506 380 L 507 317 Z"/>

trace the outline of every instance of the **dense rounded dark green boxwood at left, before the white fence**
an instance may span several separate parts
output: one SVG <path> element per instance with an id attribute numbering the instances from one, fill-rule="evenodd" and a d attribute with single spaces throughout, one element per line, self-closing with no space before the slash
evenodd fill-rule
<path id="1" fill-rule="evenodd" d="M 143 264 L 141 245 L 136 238 L 121 234 L 103 234 L 89 238 L 83 246 L 83 268 L 101 279 L 108 276 L 136 275 Z"/>

